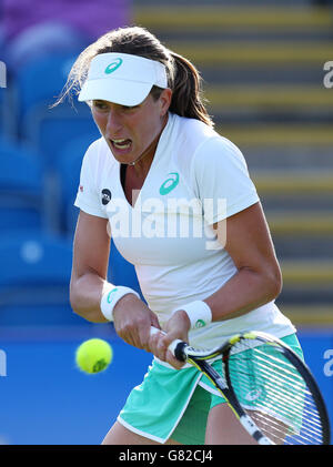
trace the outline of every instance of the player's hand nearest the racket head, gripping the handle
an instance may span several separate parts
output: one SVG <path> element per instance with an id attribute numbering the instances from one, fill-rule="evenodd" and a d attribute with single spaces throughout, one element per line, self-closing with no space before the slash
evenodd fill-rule
<path id="1" fill-rule="evenodd" d="M 184 363 L 179 362 L 169 351 L 169 345 L 175 341 L 189 342 L 190 319 L 188 314 L 180 309 L 163 326 L 163 333 L 155 333 L 150 336 L 149 346 L 151 352 L 161 361 L 169 363 L 180 369 Z"/>

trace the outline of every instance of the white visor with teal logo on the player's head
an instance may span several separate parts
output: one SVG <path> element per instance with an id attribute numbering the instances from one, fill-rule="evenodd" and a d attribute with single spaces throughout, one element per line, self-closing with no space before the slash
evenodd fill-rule
<path id="1" fill-rule="evenodd" d="M 129 53 L 101 53 L 91 61 L 79 101 L 138 105 L 153 85 L 168 88 L 165 67 L 161 62 Z"/>

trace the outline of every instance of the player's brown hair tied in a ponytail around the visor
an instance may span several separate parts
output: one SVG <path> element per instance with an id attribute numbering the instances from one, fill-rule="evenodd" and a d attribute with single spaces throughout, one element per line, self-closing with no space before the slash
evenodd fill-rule
<path id="1" fill-rule="evenodd" d="M 64 91 L 54 105 L 72 92 L 79 93 L 88 75 L 91 60 L 100 53 L 119 52 L 157 60 L 167 68 L 168 85 L 172 90 L 170 112 L 196 119 L 210 126 L 213 122 L 204 106 L 202 79 L 195 67 L 184 57 L 167 49 L 144 28 L 119 28 L 100 37 L 81 52 L 73 64 Z M 159 99 L 162 89 L 153 87 L 151 94 Z"/>

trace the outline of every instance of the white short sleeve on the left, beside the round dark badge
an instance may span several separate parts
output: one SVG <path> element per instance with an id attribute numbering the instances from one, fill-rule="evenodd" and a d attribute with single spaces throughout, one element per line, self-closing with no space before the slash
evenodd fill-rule
<path id="1" fill-rule="evenodd" d="M 81 173 L 80 185 L 78 189 L 74 206 L 80 207 L 88 214 L 98 217 L 108 217 L 101 207 L 99 191 L 97 187 L 97 171 L 99 158 L 99 140 L 92 143 L 84 154 Z"/>

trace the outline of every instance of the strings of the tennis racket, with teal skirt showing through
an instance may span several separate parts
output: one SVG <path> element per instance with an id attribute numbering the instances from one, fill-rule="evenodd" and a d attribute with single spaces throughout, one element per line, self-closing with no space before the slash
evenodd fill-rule
<path id="1" fill-rule="evenodd" d="M 280 347 L 241 341 L 232 348 L 229 373 L 240 404 L 275 444 L 322 444 L 314 397 Z"/>

